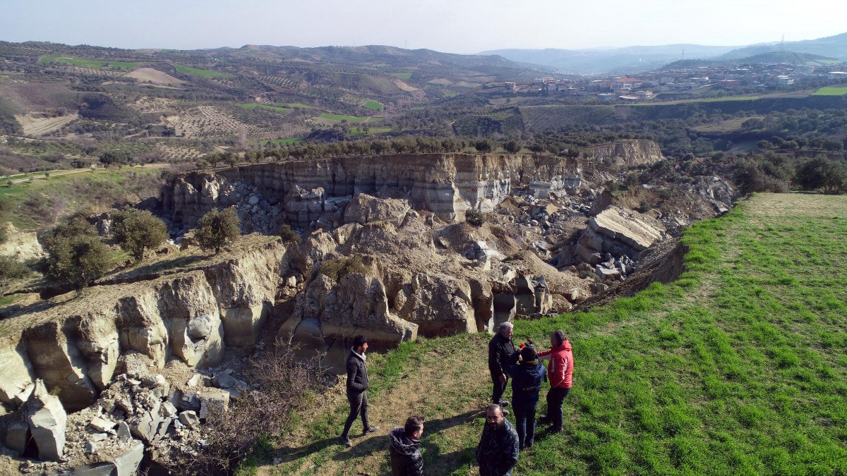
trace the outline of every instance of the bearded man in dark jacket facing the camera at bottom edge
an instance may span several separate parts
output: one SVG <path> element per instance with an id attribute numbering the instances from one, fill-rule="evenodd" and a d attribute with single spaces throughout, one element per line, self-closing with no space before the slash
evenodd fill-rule
<path id="1" fill-rule="evenodd" d="M 518 433 L 503 418 L 500 405 L 488 406 L 476 456 L 480 476 L 512 476 L 512 468 L 518 464 Z"/>

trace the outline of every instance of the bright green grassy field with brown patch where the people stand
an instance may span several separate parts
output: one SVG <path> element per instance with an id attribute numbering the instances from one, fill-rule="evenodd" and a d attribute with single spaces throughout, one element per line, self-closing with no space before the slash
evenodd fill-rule
<path id="1" fill-rule="evenodd" d="M 676 282 L 518 321 L 516 340 L 565 329 L 576 371 L 565 432 L 541 432 L 516 473 L 847 473 L 844 235 L 847 197 L 756 196 L 685 233 Z M 286 436 L 282 462 L 258 472 L 388 473 L 385 430 L 421 413 L 427 473 L 476 473 L 485 342 L 457 335 L 374 354 L 383 431 L 336 445 L 346 401 L 335 390 Z"/>

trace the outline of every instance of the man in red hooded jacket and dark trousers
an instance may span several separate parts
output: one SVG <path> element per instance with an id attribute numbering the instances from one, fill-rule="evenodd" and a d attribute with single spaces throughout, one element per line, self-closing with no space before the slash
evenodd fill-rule
<path id="1" fill-rule="evenodd" d="M 539 419 L 539 423 L 553 423 L 551 431 L 562 431 L 562 403 L 571 392 L 573 382 L 573 352 L 567 335 L 561 330 L 554 330 L 550 335 L 549 351 L 540 351 L 539 357 L 550 356 L 547 363 L 547 379 L 550 380 L 550 391 L 547 392 L 547 415 Z"/>

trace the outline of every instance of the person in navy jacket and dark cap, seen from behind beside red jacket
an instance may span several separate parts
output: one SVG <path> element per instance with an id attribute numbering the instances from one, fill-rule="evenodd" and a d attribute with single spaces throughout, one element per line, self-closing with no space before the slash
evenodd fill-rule
<path id="1" fill-rule="evenodd" d="M 512 376 L 512 410 L 518 430 L 518 449 L 523 450 L 531 447 L 535 438 L 535 408 L 545 369 L 538 363 L 535 349 L 526 346 L 512 354 L 507 371 Z"/>

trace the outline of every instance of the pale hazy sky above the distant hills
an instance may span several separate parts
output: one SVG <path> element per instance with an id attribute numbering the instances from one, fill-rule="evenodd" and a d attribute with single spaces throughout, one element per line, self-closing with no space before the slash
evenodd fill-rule
<path id="1" fill-rule="evenodd" d="M 449 53 L 695 43 L 847 31 L 843 0 L 0 0 L 0 40 L 177 49 L 392 45 Z"/>

